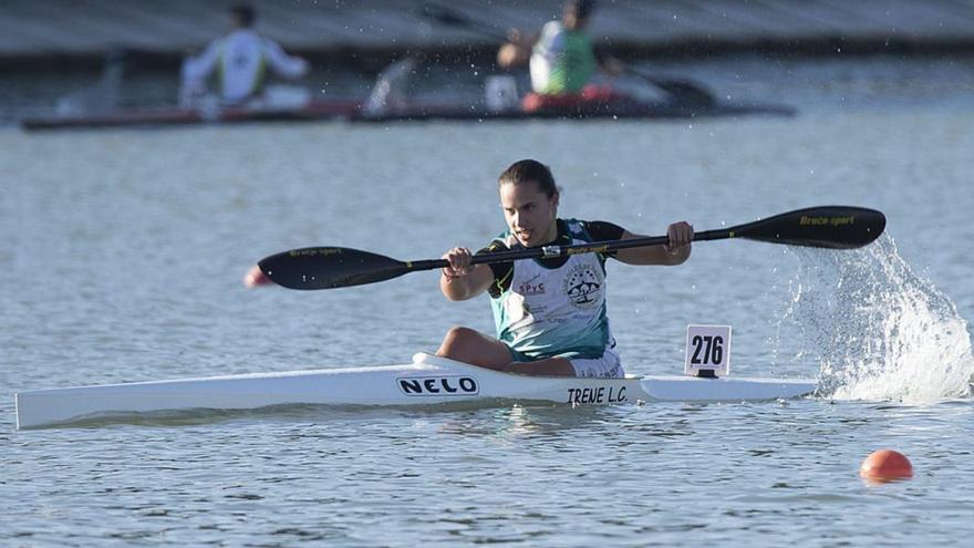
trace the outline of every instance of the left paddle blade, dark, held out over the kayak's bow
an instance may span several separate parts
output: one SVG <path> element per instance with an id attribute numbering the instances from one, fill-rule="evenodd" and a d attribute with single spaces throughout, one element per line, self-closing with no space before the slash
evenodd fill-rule
<path id="1" fill-rule="evenodd" d="M 388 280 L 406 273 L 405 262 L 344 247 L 305 247 L 263 258 L 257 263 L 274 283 L 288 289 L 334 289 Z"/>

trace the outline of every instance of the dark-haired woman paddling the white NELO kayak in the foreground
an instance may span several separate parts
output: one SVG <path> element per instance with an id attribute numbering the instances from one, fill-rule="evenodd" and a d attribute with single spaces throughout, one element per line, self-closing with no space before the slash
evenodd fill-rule
<path id="1" fill-rule="evenodd" d="M 558 218 L 559 192 L 551 170 L 533 159 L 516 162 L 499 178 L 507 231 L 481 254 L 538 246 L 568 246 L 640 238 L 605 221 Z M 455 247 L 439 288 L 449 300 L 485 291 L 494 309 L 496 338 L 469 328 L 447 332 L 438 355 L 483 368 L 533 375 L 622 376 L 605 316 L 605 261 L 680 265 L 690 257 L 693 227 L 674 223 L 665 246 L 470 265 L 473 255 Z"/>

